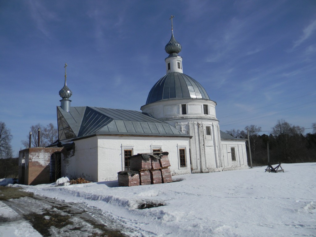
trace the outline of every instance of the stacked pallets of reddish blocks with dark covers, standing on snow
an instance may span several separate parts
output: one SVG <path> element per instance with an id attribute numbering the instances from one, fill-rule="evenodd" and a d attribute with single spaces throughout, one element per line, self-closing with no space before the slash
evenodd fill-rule
<path id="1" fill-rule="evenodd" d="M 172 182 L 168 152 L 133 155 L 130 170 L 118 172 L 119 186 L 137 186 Z"/>

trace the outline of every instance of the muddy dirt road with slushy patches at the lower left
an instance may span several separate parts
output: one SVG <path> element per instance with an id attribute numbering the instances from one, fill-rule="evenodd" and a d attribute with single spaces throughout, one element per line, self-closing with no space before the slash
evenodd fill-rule
<path id="1" fill-rule="evenodd" d="M 18 214 L 13 220 L 0 216 L 1 223 L 24 219 L 42 236 L 123 237 L 128 235 L 121 231 L 132 233 L 101 210 L 83 203 L 64 203 L 12 187 L 0 187 L 0 191 L 0 201 Z"/>

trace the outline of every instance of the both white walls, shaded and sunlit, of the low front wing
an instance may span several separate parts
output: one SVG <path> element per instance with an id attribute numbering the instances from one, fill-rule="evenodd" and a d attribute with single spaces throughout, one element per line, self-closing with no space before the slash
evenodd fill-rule
<path id="1" fill-rule="evenodd" d="M 82 177 L 90 181 L 116 180 L 117 173 L 124 170 L 124 149 L 137 153 L 151 153 L 156 147 L 169 152 L 171 172 L 191 173 L 188 137 L 132 137 L 94 136 L 75 141 L 73 156 L 64 159 L 64 175 L 70 179 Z M 187 167 L 179 167 L 177 145 L 186 149 Z"/>

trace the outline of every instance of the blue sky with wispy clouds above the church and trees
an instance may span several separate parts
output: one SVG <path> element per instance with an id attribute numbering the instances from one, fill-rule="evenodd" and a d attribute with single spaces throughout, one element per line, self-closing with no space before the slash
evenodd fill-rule
<path id="1" fill-rule="evenodd" d="M 314 0 L 2 0 L 0 121 L 14 155 L 31 125 L 57 126 L 65 63 L 71 106 L 139 111 L 166 73 L 171 15 L 183 72 L 217 102 L 221 130 L 316 123 Z"/>

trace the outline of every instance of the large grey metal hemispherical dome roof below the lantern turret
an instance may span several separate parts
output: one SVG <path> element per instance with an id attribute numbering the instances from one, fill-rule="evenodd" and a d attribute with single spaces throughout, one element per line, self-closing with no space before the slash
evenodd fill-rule
<path id="1" fill-rule="evenodd" d="M 210 100 L 205 89 L 192 77 L 180 72 L 170 72 L 151 88 L 146 105 L 159 100 L 190 98 Z"/>

